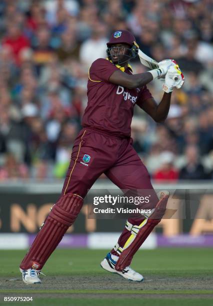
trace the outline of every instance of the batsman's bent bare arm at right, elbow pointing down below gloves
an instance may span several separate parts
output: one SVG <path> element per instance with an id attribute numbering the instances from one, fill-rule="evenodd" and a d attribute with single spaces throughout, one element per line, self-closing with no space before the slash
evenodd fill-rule
<path id="1" fill-rule="evenodd" d="M 166 119 L 170 107 L 171 92 L 164 92 L 160 103 L 157 105 L 154 98 L 147 98 L 140 106 L 155 122 Z"/>

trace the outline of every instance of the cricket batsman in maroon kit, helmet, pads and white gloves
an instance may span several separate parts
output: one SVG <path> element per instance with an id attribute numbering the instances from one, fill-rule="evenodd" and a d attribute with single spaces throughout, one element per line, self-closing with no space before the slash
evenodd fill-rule
<path id="1" fill-rule="evenodd" d="M 106 176 L 121 190 L 152 190 L 151 213 L 129 217 L 115 244 L 100 265 L 134 281 L 143 276 L 129 265 L 132 257 L 161 220 L 169 197 L 157 197 L 145 165 L 132 147 L 130 125 L 135 105 L 155 122 L 168 114 L 171 92 L 184 82 L 178 65 L 171 59 L 159 62 L 159 68 L 132 74 L 129 60 L 136 57 L 138 45 L 132 33 L 117 30 L 107 42 L 107 58 L 98 58 L 88 72 L 88 103 L 82 117 L 82 129 L 72 148 L 71 160 L 61 195 L 46 217 L 31 247 L 20 263 L 23 281 L 40 283 L 39 274 L 64 233 L 74 222 L 87 191 L 100 176 Z M 164 91 L 156 103 L 146 84 L 162 78 Z"/>

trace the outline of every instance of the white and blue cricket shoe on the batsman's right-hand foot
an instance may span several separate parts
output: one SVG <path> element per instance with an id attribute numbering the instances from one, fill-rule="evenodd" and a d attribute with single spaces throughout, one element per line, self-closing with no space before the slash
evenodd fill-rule
<path id="1" fill-rule="evenodd" d="M 133 281 L 142 281 L 143 276 L 135 272 L 130 266 L 126 266 L 122 271 L 115 270 L 116 261 L 111 258 L 111 253 L 108 253 L 100 262 L 100 266 L 109 272 L 116 273 L 126 279 Z"/>

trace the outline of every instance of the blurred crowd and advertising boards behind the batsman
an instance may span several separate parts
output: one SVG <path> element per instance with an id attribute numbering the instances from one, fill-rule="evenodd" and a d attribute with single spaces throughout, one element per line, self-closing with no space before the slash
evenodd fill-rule
<path id="1" fill-rule="evenodd" d="M 211 0 L 0 1 L 1 248 L 27 248 L 57 199 L 87 103 L 88 67 L 121 28 L 157 61 L 174 58 L 185 75 L 163 124 L 134 109 L 134 148 L 154 186 L 183 190 L 184 213 L 161 222 L 145 247 L 212 246 L 211 12 Z M 132 67 L 146 70 L 138 60 Z M 160 101 L 161 83 L 148 88 Z M 95 188 L 114 186 L 101 175 L 91 194 Z M 61 246 L 109 247 L 122 224 L 89 220 L 85 206 Z"/>

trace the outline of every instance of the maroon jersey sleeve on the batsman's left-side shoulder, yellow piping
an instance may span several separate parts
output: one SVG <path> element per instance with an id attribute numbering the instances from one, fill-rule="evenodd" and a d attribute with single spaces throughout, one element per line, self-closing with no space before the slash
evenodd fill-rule
<path id="1" fill-rule="evenodd" d="M 117 70 L 109 60 L 104 58 L 98 58 L 91 64 L 89 68 L 89 79 L 91 81 L 108 81 L 111 74 Z"/>

